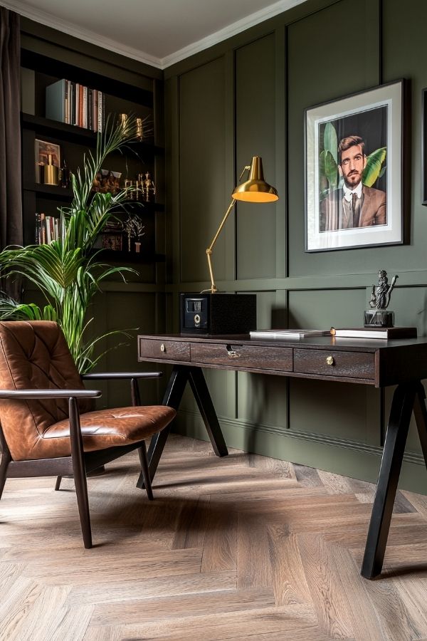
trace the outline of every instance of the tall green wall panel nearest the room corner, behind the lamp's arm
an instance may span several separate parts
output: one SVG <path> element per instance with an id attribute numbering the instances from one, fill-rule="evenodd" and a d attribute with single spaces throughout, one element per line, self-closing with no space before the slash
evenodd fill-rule
<path id="1" fill-rule="evenodd" d="M 208 278 L 204 249 L 230 200 L 226 197 L 225 90 L 224 58 L 189 71 L 179 80 L 181 281 Z M 225 261 L 221 236 L 213 256 L 217 279 L 225 277 Z"/>

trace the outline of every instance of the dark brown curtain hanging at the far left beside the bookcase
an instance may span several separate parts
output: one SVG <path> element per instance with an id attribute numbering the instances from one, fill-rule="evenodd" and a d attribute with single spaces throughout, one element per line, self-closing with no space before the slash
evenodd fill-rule
<path id="1" fill-rule="evenodd" d="M 0 7 L 0 249 L 22 245 L 20 16 Z M 18 281 L 1 289 L 19 298 Z"/>

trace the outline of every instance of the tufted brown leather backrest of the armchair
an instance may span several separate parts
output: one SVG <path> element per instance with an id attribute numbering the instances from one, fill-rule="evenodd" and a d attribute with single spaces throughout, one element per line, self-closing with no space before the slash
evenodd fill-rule
<path id="1" fill-rule="evenodd" d="M 51 320 L 0 322 L 0 388 L 84 389 L 64 335 Z M 90 400 L 79 403 L 92 409 Z M 2 400 L 0 423 L 12 459 L 31 457 L 43 432 L 68 417 L 67 399 Z"/>

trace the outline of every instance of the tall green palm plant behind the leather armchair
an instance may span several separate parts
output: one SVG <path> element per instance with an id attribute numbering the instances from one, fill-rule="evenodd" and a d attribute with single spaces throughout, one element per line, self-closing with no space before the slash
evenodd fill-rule
<path id="1" fill-rule="evenodd" d="M 118 207 L 125 207 L 130 192 L 126 187 L 117 194 L 97 192 L 92 186 L 112 152 L 122 150 L 137 138 L 136 120 L 127 118 L 115 124 L 107 120 L 105 130 L 97 134 L 95 154 L 88 152 L 83 170 L 71 174 L 73 200 L 70 207 L 60 209 L 60 237 L 50 244 L 6 247 L 0 252 L 0 274 L 19 274 L 31 281 L 43 294 L 44 306 L 19 303 L 0 298 L 1 320 L 56 320 L 63 330 L 70 352 L 81 374 L 92 370 L 103 353 L 97 345 L 107 334 L 90 337 L 88 327 L 93 320 L 88 310 L 102 281 L 113 273 L 125 278 L 129 267 L 110 266 L 100 262 L 94 251 L 97 236 L 115 216 Z"/>

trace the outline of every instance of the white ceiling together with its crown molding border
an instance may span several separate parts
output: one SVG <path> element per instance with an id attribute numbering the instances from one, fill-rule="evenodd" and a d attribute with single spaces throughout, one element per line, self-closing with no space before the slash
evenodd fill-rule
<path id="1" fill-rule="evenodd" d="M 0 0 L 0 5 L 158 68 L 305 0 Z"/>

